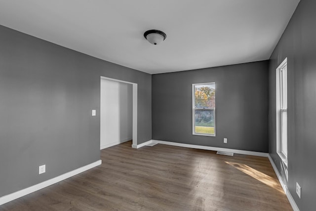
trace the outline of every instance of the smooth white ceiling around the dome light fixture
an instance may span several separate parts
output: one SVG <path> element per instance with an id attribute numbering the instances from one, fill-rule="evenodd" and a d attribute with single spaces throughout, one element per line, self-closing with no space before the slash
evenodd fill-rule
<path id="1" fill-rule="evenodd" d="M 0 0 L 0 25 L 150 74 L 269 59 L 299 0 Z M 150 29 L 167 38 L 152 45 Z"/>

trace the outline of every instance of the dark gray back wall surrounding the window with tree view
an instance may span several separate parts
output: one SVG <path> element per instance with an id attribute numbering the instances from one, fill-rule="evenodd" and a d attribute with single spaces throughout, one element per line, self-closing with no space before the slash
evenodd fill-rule
<path id="1" fill-rule="evenodd" d="M 192 84 L 207 82 L 216 137 L 192 134 Z M 152 121 L 156 140 L 268 152 L 268 61 L 153 75 Z"/>

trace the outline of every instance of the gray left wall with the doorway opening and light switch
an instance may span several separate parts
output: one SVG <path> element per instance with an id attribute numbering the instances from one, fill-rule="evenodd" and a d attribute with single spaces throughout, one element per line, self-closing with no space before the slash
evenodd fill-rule
<path id="1" fill-rule="evenodd" d="M 0 26 L 0 197 L 100 159 L 100 76 L 138 84 L 150 140 L 151 75 Z"/>

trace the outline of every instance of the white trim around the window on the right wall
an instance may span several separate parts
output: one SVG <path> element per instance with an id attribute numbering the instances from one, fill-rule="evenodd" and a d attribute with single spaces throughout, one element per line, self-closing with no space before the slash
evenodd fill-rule
<path id="1" fill-rule="evenodd" d="M 281 132 L 281 121 L 282 121 L 281 112 L 287 113 L 287 105 L 285 108 L 281 108 L 281 96 L 280 96 L 280 90 L 281 90 L 280 71 L 285 66 L 287 67 L 287 58 L 285 58 L 284 61 L 276 68 L 276 153 L 278 154 L 278 156 L 281 158 L 281 160 L 287 167 L 287 152 L 286 154 L 282 152 L 282 137 L 281 137 L 281 133 L 282 133 Z M 287 93 L 287 90 L 286 90 L 286 93 Z M 287 133 L 287 129 L 286 129 L 286 133 Z M 286 135 L 286 142 L 287 142 L 287 135 Z"/>

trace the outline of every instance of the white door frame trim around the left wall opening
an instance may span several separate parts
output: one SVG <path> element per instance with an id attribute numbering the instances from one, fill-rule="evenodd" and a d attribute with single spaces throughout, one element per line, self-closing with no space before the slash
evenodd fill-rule
<path id="1" fill-rule="evenodd" d="M 121 80 L 117 80 L 117 79 L 111 79 L 111 78 L 107 78 L 107 77 L 103 77 L 103 76 L 101 76 L 101 79 L 106 79 L 106 80 L 110 80 L 110 81 L 121 82 L 121 83 L 133 85 L 133 136 L 132 136 L 133 144 L 132 145 L 136 146 L 137 145 L 137 84 L 131 83 L 131 82 L 126 82 L 126 81 L 121 81 Z M 100 83 L 101 83 L 101 80 L 100 80 Z M 101 87 L 100 87 L 100 95 L 101 95 Z M 101 104 L 101 102 L 100 102 L 100 104 Z M 100 109 L 101 109 L 101 105 L 100 105 Z M 101 117 L 100 117 L 100 126 L 101 126 Z"/>

